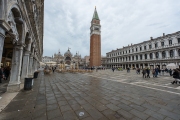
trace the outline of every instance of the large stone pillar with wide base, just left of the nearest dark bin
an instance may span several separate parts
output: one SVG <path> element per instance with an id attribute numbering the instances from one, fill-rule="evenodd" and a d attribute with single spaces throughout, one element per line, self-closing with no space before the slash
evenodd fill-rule
<path id="1" fill-rule="evenodd" d="M 20 72 L 22 64 L 23 46 L 15 45 L 13 48 L 13 58 L 11 64 L 11 76 L 7 86 L 8 92 L 16 92 L 20 90 Z"/>

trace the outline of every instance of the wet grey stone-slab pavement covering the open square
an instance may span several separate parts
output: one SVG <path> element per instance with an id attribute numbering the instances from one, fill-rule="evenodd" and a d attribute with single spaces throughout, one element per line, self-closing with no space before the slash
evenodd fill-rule
<path id="1" fill-rule="evenodd" d="M 35 79 L 0 113 L 0 120 L 180 120 L 179 84 L 168 75 L 135 71 L 54 73 Z"/>

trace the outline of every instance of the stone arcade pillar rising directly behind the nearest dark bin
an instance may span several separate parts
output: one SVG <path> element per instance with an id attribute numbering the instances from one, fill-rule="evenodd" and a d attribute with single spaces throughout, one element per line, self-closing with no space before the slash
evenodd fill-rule
<path id="1" fill-rule="evenodd" d="M 24 82 L 24 78 L 28 77 L 29 70 L 29 52 L 25 51 L 23 56 L 23 64 L 22 64 L 22 74 L 21 74 L 21 82 Z"/>

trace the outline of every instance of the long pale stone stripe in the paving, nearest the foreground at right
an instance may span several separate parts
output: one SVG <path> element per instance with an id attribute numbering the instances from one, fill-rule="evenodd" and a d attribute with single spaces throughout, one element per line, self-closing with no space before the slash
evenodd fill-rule
<path id="1" fill-rule="evenodd" d="M 103 78 L 103 77 L 97 77 L 97 76 L 93 76 L 93 75 L 87 75 L 87 76 L 92 76 L 92 77 L 106 79 L 106 80 L 112 80 L 112 79 L 107 79 L 107 78 Z M 112 80 L 112 81 L 121 82 L 121 81 L 118 81 L 118 80 Z M 128 83 L 128 82 L 121 82 L 121 83 L 135 85 L 135 86 L 139 86 L 139 87 L 144 87 L 144 88 L 149 88 L 149 89 L 153 89 L 153 90 L 158 90 L 158 91 L 163 91 L 163 92 L 168 92 L 168 93 L 180 95 L 180 93 L 176 93 L 176 92 L 172 92 L 172 91 L 167 91 L 167 90 L 162 90 L 162 89 L 157 89 L 157 88 L 152 88 L 152 87 L 147 87 L 147 86 L 143 86 L 143 85 L 137 85 L 137 84 L 134 84 L 134 83 Z"/>

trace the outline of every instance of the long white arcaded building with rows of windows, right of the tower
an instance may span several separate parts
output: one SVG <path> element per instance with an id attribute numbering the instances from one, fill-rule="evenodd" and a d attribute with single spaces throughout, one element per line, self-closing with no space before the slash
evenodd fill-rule
<path id="1" fill-rule="evenodd" d="M 109 68 L 166 68 L 169 63 L 180 65 L 180 31 L 106 53 Z"/>

